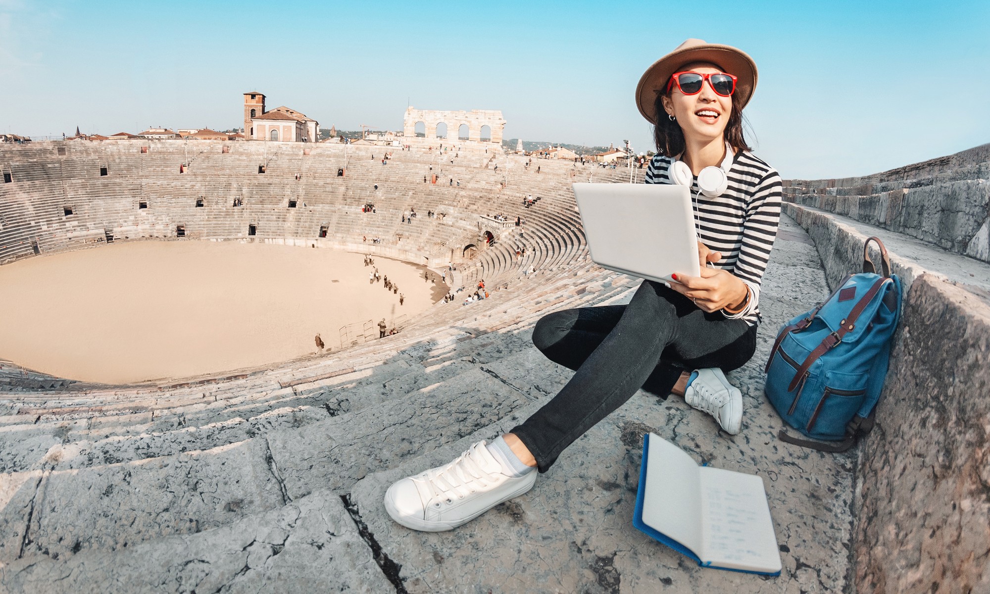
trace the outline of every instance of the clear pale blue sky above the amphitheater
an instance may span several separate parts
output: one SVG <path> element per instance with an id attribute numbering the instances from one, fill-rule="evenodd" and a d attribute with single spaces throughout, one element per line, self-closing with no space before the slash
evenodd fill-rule
<path id="1" fill-rule="evenodd" d="M 646 150 L 636 84 L 693 37 L 755 59 L 757 155 L 841 177 L 990 142 L 988 24 L 987 0 L 0 0 L 0 132 L 233 128 L 257 90 L 324 128 L 500 109 L 506 138 Z"/>

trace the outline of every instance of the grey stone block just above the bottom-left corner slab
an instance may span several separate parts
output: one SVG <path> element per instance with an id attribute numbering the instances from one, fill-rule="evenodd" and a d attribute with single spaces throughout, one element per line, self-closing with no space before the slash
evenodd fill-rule
<path id="1" fill-rule="evenodd" d="M 55 465 L 34 496 L 30 524 L 8 505 L 0 510 L 0 532 L 23 534 L 27 524 L 23 554 L 55 557 L 216 528 L 284 503 L 266 456 L 263 440 L 250 440 L 138 462 Z M 2 558 L 14 558 L 2 543 Z"/>

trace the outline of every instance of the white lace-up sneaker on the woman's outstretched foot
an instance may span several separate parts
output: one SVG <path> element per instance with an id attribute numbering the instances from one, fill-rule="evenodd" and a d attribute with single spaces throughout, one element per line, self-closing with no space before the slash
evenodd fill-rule
<path id="1" fill-rule="evenodd" d="M 526 493 L 537 474 L 536 469 L 519 477 L 505 474 L 482 441 L 449 464 L 393 483 L 385 492 L 385 510 L 406 528 L 452 530 Z"/>

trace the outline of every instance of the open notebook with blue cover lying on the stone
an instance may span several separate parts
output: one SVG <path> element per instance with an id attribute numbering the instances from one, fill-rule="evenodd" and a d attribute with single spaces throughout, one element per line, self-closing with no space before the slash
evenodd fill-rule
<path id="1" fill-rule="evenodd" d="M 633 526 L 703 567 L 780 575 L 763 479 L 699 466 L 654 434 L 643 442 Z"/>

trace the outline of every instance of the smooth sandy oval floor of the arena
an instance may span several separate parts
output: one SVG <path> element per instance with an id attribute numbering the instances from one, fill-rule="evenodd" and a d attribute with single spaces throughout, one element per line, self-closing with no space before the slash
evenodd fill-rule
<path id="1" fill-rule="evenodd" d="M 61 377 L 130 383 L 276 363 L 341 347 L 342 326 L 413 318 L 443 299 L 424 266 L 237 242 L 134 242 L 0 266 L 0 358 Z M 377 337 L 377 326 L 373 327 Z M 360 325 L 358 330 L 360 332 Z"/>

